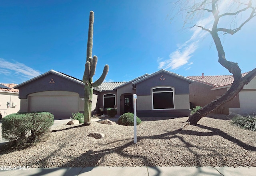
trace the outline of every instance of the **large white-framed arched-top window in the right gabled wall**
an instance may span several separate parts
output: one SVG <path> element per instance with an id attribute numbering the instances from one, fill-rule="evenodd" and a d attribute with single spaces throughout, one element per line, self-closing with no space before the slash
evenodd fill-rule
<path id="1" fill-rule="evenodd" d="M 173 88 L 158 87 L 152 89 L 153 110 L 174 109 Z"/>

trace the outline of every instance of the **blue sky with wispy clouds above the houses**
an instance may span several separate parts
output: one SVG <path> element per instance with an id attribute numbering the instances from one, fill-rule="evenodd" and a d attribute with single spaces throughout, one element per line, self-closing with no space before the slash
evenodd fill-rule
<path id="1" fill-rule="evenodd" d="M 51 69 L 82 79 L 88 19 L 94 11 L 94 81 L 109 65 L 106 82 L 129 81 L 164 68 L 182 76 L 230 74 L 218 63 L 208 33 L 170 23 L 172 0 L 2 0 L 0 82 L 20 84 Z M 200 23 L 208 24 L 204 17 Z M 222 21 L 222 23 L 226 23 Z M 256 67 L 256 18 L 222 35 L 226 58 L 242 72 Z"/>

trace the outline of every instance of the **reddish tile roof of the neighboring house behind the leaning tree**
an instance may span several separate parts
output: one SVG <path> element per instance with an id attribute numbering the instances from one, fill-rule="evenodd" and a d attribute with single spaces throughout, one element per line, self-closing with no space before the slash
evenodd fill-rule
<path id="1" fill-rule="evenodd" d="M 248 72 L 243 73 L 242 76 L 244 77 L 246 74 L 248 74 Z M 212 88 L 231 86 L 234 81 L 233 75 L 204 76 L 204 78 L 202 76 L 188 76 L 187 78 L 208 84 L 212 86 Z"/>

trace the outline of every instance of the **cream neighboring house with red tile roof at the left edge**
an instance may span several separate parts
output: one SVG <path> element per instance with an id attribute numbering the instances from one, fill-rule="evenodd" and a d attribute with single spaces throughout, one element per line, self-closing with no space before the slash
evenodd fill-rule
<path id="1" fill-rule="evenodd" d="M 17 84 L 0 84 L 0 113 L 2 117 L 20 110 L 19 90 L 13 87 Z"/>

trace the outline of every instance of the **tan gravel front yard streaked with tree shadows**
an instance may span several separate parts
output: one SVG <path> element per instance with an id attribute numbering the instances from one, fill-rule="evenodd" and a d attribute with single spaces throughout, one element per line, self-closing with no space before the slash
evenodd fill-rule
<path id="1" fill-rule="evenodd" d="M 256 166 L 256 133 L 230 121 L 203 117 L 187 125 L 187 117 L 141 118 L 137 144 L 133 126 L 58 125 L 37 145 L 0 154 L 0 166 Z M 88 137 L 104 133 L 103 139 Z"/>

